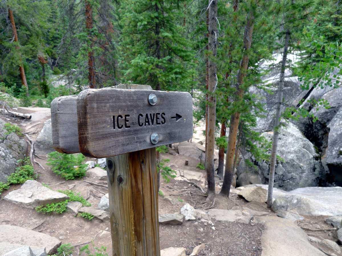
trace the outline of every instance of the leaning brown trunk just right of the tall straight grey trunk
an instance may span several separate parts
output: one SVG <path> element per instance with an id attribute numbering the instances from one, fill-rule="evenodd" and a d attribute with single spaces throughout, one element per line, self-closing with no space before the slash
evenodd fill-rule
<path id="1" fill-rule="evenodd" d="M 244 76 L 246 76 L 246 72 L 248 69 L 248 61 L 249 61 L 249 49 L 252 44 L 252 36 L 253 36 L 253 26 L 254 26 L 254 17 L 250 12 L 247 16 L 247 24 L 245 26 L 244 32 L 244 52 L 242 55 L 242 60 L 240 62 L 240 68 L 237 72 L 237 82 L 236 82 L 236 96 L 235 101 L 242 103 L 242 96 L 244 94 L 244 89 L 242 88 L 244 82 Z M 220 195 L 229 197 L 229 192 L 231 190 L 231 184 L 233 180 L 233 166 L 234 166 L 234 154 L 235 154 L 235 146 L 236 146 L 236 136 L 239 127 L 240 120 L 240 112 L 236 111 L 235 114 L 231 117 L 231 123 L 229 127 L 229 136 L 228 136 L 228 147 L 227 147 L 227 156 L 226 156 L 226 171 L 224 174 L 224 180 Z"/>

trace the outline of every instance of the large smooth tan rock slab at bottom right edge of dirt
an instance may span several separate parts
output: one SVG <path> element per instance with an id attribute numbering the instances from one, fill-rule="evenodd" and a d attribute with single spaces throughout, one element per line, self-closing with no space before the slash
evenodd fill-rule
<path id="1" fill-rule="evenodd" d="M 324 256 L 310 244 L 307 234 L 291 221 L 274 217 L 257 217 L 265 230 L 261 236 L 262 256 Z"/>

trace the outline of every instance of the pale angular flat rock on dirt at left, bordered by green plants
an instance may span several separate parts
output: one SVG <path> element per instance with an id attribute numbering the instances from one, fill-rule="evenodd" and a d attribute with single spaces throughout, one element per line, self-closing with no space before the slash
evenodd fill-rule
<path id="1" fill-rule="evenodd" d="M 23 207 L 34 209 L 40 205 L 65 201 L 69 197 L 63 193 L 44 187 L 37 181 L 28 180 L 21 188 L 8 193 L 4 199 Z"/>

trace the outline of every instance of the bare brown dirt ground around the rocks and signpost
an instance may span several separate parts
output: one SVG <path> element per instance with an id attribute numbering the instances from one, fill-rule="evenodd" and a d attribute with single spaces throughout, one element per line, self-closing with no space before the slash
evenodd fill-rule
<path id="1" fill-rule="evenodd" d="M 26 109 L 26 112 L 30 111 Z M 32 111 L 32 114 L 34 111 Z M 47 118 L 42 118 L 47 119 Z M 10 120 L 12 123 L 17 123 L 27 132 L 31 139 L 36 140 L 39 131 L 43 127 L 44 120 L 40 120 L 36 125 L 30 122 L 30 125 L 23 125 L 27 121 Z M 36 121 L 38 122 L 38 121 Z M 32 126 L 33 125 L 33 126 Z M 25 127 L 30 129 L 25 130 Z M 28 148 L 29 153 L 30 148 Z M 45 156 L 42 156 L 46 158 Z M 190 171 L 202 172 L 205 171 L 196 168 L 198 160 L 185 157 L 182 155 L 171 155 L 168 153 L 161 154 L 162 159 L 170 159 L 170 165 L 178 166 L 176 169 L 186 169 Z M 189 160 L 185 166 L 185 159 Z M 96 160 L 87 158 L 87 160 Z M 38 161 L 44 168 L 42 169 L 37 164 L 34 165 L 38 172 L 38 182 L 48 184 L 53 190 L 57 189 L 72 189 L 79 192 L 83 197 L 87 197 L 90 193 L 89 202 L 94 207 L 97 206 L 100 198 L 108 193 L 105 187 L 94 186 L 86 181 L 96 182 L 98 184 L 107 185 L 107 181 L 100 181 L 98 178 L 88 173 L 82 180 L 65 181 L 52 173 L 50 167 L 46 165 L 46 159 Z M 198 183 L 198 181 L 194 181 Z M 75 255 L 79 255 L 79 248 L 90 244 L 90 247 L 107 247 L 106 252 L 111 254 L 111 236 L 109 221 L 101 221 L 93 218 L 91 221 L 82 217 L 75 217 L 71 213 L 64 214 L 43 214 L 38 213 L 33 209 L 19 207 L 16 204 L 2 200 L 10 191 L 18 189 L 20 186 L 11 186 L 9 190 L 5 190 L 0 195 L 0 224 L 16 225 L 26 229 L 32 229 L 45 234 L 49 234 L 62 241 L 63 244 L 70 243 L 75 246 Z M 170 200 L 158 196 L 159 214 L 179 212 L 185 203 L 189 203 L 198 209 L 239 209 L 249 208 L 254 211 L 269 212 L 269 215 L 274 213 L 266 208 L 266 203 L 247 202 L 244 198 L 239 198 L 236 193 L 231 193 L 229 198 L 224 198 L 216 195 L 214 202 L 207 201 L 202 196 L 202 191 L 186 181 L 176 181 L 171 179 L 169 183 L 161 180 L 160 189 L 165 196 L 175 198 L 176 205 Z M 216 191 L 219 192 L 219 191 Z M 325 223 L 327 216 L 304 216 L 304 221 L 298 223 L 309 229 L 331 228 Z M 205 224 L 200 221 L 184 221 L 182 225 L 159 225 L 160 233 L 160 249 L 168 247 L 185 247 L 186 254 L 191 254 L 193 248 L 199 244 L 205 244 L 206 247 L 199 255 L 261 255 L 262 245 L 261 236 L 264 227 L 261 224 L 251 225 L 238 222 L 223 222 L 212 220 L 212 225 Z M 215 227 L 213 229 L 212 227 Z M 107 231 L 107 232 L 104 232 Z M 333 231 L 310 231 L 305 230 L 309 236 L 315 236 L 319 239 L 331 239 Z M 93 243 L 93 245 L 92 245 Z"/>

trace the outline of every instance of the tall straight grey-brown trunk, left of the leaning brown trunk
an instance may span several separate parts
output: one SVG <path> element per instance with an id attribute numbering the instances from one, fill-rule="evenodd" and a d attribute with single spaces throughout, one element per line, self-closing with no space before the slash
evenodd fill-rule
<path id="1" fill-rule="evenodd" d="M 217 86 L 216 76 L 216 52 L 217 52 L 217 2 L 209 0 L 209 51 L 212 53 L 209 57 L 209 97 L 208 97 L 208 132 L 207 132 L 207 181 L 208 197 L 215 195 L 215 178 L 214 178 L 214 147 L 215 147 L 215 125 L 216 125 L 216 97 L 215 89 Z"/>

